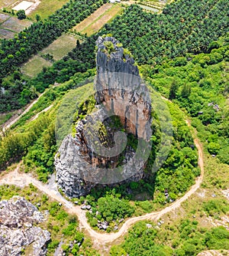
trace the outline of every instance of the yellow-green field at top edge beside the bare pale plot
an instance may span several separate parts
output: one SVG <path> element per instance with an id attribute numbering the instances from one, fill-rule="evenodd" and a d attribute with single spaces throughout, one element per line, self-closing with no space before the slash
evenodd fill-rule
<path id="1" fill-rule="evenodd" d="M 60 9 L 69 0 L 40 0 L 40 4 L 28 17 L 35 19 L 36 15 L 40 15 L 41 18 L 47 18 L 49 15 L 53 14 L 54 11 Z"/>

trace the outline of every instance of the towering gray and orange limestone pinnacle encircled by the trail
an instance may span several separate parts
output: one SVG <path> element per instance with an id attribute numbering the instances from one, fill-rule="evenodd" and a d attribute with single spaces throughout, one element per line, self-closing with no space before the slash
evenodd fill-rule
<path id="1" fill-rule="evenodd" d="M 114 38 L 99 37 L 96 44 L 97 111 L 79 121 L 76 136 L 63 139 L 55 158 L 57 183 L 71 198 L 88 194 L 97 184 L 142 179 L 150 154 L 150 96 L 134 59 Z M 129 133 L 136 138 L 135 151 L 127 143 Z"/>

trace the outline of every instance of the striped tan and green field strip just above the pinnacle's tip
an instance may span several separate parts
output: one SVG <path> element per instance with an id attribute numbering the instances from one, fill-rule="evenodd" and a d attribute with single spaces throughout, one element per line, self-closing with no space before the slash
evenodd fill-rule
<path id="1" fill-rule="evenodd" d="M 118 15 L 123 10 L 121 5 L 105 4 L 101 8 L 98 8 L 92 15 L 85 18 L 84 21 L 76 25 L 73 28 L 78 32 L 87 34 L 88 36 L 97 32 L 102 26 L 104 26 L 111 18 Z"/>

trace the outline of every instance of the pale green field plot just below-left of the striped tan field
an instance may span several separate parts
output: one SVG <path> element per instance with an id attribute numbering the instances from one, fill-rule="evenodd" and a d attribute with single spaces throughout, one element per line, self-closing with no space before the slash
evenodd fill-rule
<path id="1" fill-rule="evenodd" d="M 69 51 L 76 47 L 76 38 L 69 34 L 63 34 L 60 38 L 53 41 L 40 54 L 51 54 L 55 61 L 63 58 Z"/>

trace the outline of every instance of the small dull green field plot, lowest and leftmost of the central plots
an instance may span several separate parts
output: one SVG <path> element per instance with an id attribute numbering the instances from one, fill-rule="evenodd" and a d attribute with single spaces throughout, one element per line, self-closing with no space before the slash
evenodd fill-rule
<path id="1" fill-rule="evenodd" d="M 42 71 L 43 67 L 50 67 L 51 65 L 49 61 L 45 61 L 44 58 L 36 55 L 21 67 L 21 71 L 29 77 L 35 77 Z"/>

